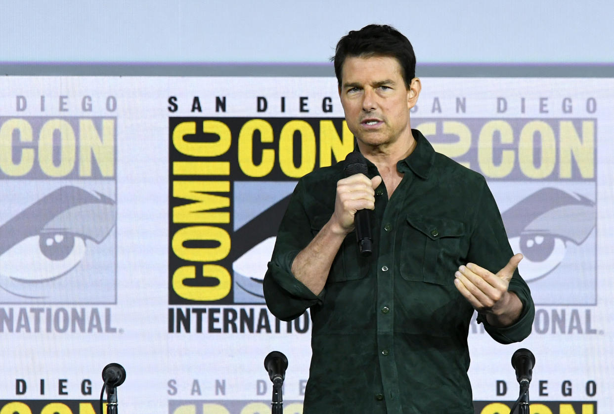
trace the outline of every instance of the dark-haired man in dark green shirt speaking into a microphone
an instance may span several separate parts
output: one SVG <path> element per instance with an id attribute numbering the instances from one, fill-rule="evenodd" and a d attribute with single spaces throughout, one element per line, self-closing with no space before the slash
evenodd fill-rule
<path id="1" fill-rule="evenodd" d="M 264 279 L 278 318 L 311 309 L 304 412 L 473 414 L 474 310 L 498 342 L 530 333 L 522 255 L 511 251 L 484 178 L 411 129 L 421 82 L 409 40 L 369 25 L 342 37 L 334 60 L 365 159 L 352 153 L 301 178 Z M 355 221 L 360 210 L 366 226 Z"/>

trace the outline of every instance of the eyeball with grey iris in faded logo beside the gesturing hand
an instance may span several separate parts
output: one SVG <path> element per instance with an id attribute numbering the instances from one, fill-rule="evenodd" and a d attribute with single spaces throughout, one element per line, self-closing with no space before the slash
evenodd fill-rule
<path id="1" fill-rule="evenodd" d="M 555 234 L 527 234 L 510 237 L 511 250 L 523 253 L 518 270 L 527 282 L 550 274 L 565 258 L 567 246 Z"/>

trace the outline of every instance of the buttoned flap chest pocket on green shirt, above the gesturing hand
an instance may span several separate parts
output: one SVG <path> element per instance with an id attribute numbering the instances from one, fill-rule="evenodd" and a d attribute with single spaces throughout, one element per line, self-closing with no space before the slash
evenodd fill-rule
<path id="1" fill-rule="evenodd" d="M 467 253 L 462 221 L 408 215 L 400 254 L 401 276 L 412 282 L 450 285 Z"/>

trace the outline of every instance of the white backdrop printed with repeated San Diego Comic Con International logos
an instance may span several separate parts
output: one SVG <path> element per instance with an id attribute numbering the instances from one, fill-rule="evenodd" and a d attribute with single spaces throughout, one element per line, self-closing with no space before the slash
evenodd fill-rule
<path id="1" fill-rule="evenodd" d="M 519 348 L 532 413 L 610 412 L 614 80 L 423 79 L 418 128 L 488 180 L 521 252 L 532 334 L 470 327 L 476 413 L 507 413 Z M 332 78 L 0 79 L 0 414 L 263 414 L 263 359 L 301 413 L 308 313 L 262 279 L 301 176 L 354 147 Z M 351 386 L 351 385 L 348 385 Z M 507 411 L 506 411 L 507 410 Z"/>

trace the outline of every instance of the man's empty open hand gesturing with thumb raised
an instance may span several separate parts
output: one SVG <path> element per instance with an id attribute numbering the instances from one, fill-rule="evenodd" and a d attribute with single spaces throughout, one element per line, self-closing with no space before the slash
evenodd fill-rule
<path id="1" fill-rule="evenodd" d="M 494 326 L 513 324 L 523 310 L 523 304 L 513 292 L 508 292 L 511 277 L 523 255 L 518 253 L 499 270 L 497 274 L 476 265 L 467 263 L 459 267 L 454 274 L 454 285 L 462 296 L 480 313 L 486 314 L 486 320 Z"/>

